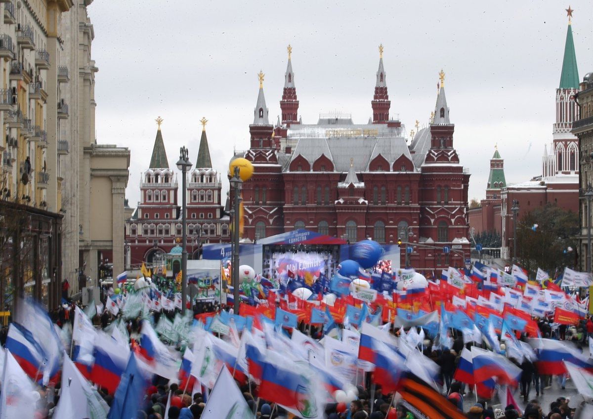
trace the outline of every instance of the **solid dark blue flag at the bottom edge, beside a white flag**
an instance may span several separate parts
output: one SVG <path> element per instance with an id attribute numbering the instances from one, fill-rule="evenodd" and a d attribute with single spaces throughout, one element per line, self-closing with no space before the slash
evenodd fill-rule
<path id="1" fill-rule="evenodd" d="M 148 388 L 148 380 L 138 368 L 136 357 L 132 353 L 127 362 L 126 370 L 113 395 L 113 402 L 107 419 L 130 419 L 138 416 L 142 408 L 142 396 Z"/>

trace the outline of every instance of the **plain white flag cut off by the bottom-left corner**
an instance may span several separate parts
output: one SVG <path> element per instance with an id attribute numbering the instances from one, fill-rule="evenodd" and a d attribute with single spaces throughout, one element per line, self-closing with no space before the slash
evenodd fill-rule
<path id="1" fill-rule="evenodd" d="M 32 418 L 37 399 L 35 386 L 10 351 L 5 351 L 2 395 L 0 396 L 0 419 Z"/>

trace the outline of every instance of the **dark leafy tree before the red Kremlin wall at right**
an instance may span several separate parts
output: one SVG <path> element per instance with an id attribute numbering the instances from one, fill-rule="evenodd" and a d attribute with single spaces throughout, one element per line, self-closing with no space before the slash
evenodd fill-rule
<path id="1" fill-rule="evenodd" d="M 537 225 L 537 226 L 535 226 Z M 534 209 L 519 216 L 517 223 L 517 258 L 531 274 L 540 267 L 553 275 L 566 266 L 574 266 L 579 217 L 557 205 Z"/>

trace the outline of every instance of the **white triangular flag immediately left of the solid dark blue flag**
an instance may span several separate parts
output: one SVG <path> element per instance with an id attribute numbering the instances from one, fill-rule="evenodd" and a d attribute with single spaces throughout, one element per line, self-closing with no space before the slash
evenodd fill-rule
<path id="1" fill-rule="evenodd" d="M 103 402 L 101 396 L 65 354 L 62 369 L 62 393 L 53 414 L 54 417 L 105 419 L 108 410 L 109 407 Z"/>

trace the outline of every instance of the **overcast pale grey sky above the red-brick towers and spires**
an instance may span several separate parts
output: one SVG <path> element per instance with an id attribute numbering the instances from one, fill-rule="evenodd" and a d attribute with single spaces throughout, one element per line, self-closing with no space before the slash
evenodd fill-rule
<path id="1" fill-rule="evenodd" d="M 508 183 L 541 174 L 568 6 L 551 0 L 96 0 L 89 13 L 99 68 L 97 140 L 131 149 L 130 206 L 139 200 L 159 115 L 171 167 L 182 145 L 195 164 L 205 116 L 212 163 L 225 178 L 232 149 L 249 146 L 260 69 L 270 121 L 280 113 L 287 44 L 304 123 L 336 110 L 366 123 L 382 43 L 391 116 L 408 132 L 416 119 L 428 122 L 444 69 L 454 146 L 471 172 L 470 198 L 480 199 L 495 143 Z M 593 2 L 571 0 L 570 6 L 582 79 L 593 71 Z"/>

